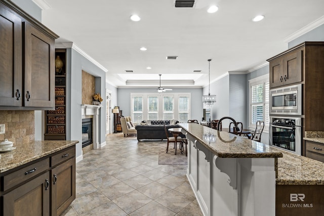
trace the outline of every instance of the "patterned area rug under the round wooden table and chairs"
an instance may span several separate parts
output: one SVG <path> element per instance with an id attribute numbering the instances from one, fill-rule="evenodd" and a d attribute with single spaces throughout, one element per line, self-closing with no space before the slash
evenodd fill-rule
<path id="1" fill-rule="evenodd" d="M 168 153 L 166 153 L 166 149 L 161 151 L 158 154 L 158 164 L 163 165 L 186 165 L 188 161 L 188 157 L 186 157 L 186 150 L 184 150 L 183 154 L 181 154 L 179 148 L 177 149 L 177 154 L 175 155 L 175 149 L 172 147 L 169 148 Z"/>

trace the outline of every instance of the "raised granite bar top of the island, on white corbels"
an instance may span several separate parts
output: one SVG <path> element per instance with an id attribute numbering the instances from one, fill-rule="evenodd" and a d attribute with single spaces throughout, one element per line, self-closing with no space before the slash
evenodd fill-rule
<path id="1" fill-rule="evenodd" d="M 227 132 L 216 131 L 196 123 L 179 124 L 185 131 L 218 157 L 265 158 L 282 157 L 282 153 L 269 145 L 239 137 Z M 209 140 L 214 140 L 210 142 Z"/>

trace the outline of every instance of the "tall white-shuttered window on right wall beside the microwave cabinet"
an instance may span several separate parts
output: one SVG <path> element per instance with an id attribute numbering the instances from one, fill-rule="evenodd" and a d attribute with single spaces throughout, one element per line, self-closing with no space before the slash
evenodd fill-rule
<path id="1" fill-rule="evenodd" d="M 257 121 L 269 125 L 269 78 L 261 76 L 250 81 L 250 126 Z"/>

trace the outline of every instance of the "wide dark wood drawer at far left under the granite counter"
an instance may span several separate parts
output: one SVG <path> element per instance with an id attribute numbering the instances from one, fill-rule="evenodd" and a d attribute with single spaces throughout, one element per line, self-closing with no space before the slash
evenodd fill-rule
<path id="1" fill-rule="evenodd" d="M 4 188 L 2 191 L 6 191 L 28 179 L 31 179 L 38 174 L 41 174 L 50 167 L 50 159 L 44 159 L 23 168 L 18 169 L 17 171 L 12 172 L 4 176 Z"/>

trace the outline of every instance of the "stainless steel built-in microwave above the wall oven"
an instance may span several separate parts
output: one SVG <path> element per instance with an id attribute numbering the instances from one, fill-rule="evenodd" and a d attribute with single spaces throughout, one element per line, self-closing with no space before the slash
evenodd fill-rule
<path id="1" fill-rule="evenodd" d="M 270 114 L 301 115 L 302 84 L 271 89 Z"/>

